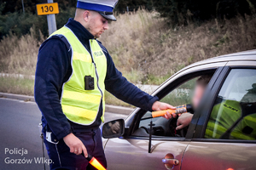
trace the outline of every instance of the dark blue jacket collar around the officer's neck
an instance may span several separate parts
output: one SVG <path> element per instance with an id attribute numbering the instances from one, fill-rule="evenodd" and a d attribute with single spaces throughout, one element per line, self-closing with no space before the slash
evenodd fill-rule
<path id="1" fill-rule="evenodd" d="M 90 31 L 86 30 L 78 21 L 69 19 L 66 26 L 70 28 L 76 37 L 79 38 L 80 42 L 88 41 L 90 39 L 95 39 Z"/>

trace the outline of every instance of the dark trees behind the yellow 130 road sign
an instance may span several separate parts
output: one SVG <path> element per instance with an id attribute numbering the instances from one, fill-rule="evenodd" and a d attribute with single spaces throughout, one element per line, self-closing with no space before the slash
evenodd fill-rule
<path id="1" fill-rule="evenodd" d="M 9 33 L 15 34 L 18 37 L 27 34 L 30 28 L 33 27 L 37 35 L 38 31 L 42 31 L 45 37 L 48 36 L 48 26 L 46 16 L 38 16 L 36 14 L 36 4 L 45 3 L 47 0 L 24 0 L 26 13 L 22 13 L 21 1 L 3 1 L 0 0 L 0 39 Z M 75 14 L 76 1 L 58 0 L 60 14 L 56 14 L 57 28 L 61 28 L 67 23 L 68 18 Z M 73 6 L 73 8 L 68 7 Z"/>

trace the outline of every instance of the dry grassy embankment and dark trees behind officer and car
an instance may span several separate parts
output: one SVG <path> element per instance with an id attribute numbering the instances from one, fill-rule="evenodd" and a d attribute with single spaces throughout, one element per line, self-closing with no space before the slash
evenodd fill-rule
<path id="1" fill-rule="evenodd" d="M 75 0 L 55 0 L 57 28 Z M 0 0 L 0 92 L 33 95 L 38 48 L 48 37 L 45 0 Z M 119 0 L 118 21 L 100 41 L 119 71 L 136 84 L 160 85 L 186 65 L 256 48 L 256 0 Z M 108 104 L 129 106 L 111 94 Z"/>

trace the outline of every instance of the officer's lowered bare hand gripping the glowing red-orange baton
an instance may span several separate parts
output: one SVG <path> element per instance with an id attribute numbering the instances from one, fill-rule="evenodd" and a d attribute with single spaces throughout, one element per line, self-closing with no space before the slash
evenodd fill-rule
<path id="1" fill-rule="evenodd" d="M 73 133 L 68 134 L 66 137 L 63 138 L 63 140 L 65 144 L 67 144 L 67 146 L 69 147 L 71 153 L 80 155 L 82 152 L 84 152 L 84 156 L 88 157 L 88 153 L 84 144 Z"/>

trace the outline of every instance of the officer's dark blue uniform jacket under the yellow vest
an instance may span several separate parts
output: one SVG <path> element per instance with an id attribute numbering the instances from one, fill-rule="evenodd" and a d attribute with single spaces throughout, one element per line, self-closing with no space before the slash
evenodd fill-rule
<path id="1" fill-rule="evenodd" d="M 83 43 L 84 48 L 90 52 L 89 40 L 94 37 L 79 22 L 69 19 L 66 25 Z M 151 111 L 152 105 L 158 99 L 152 97 L 122 77 L 107 49 L 99 42 L 105 56 L 107 57 L 107 76 L 105 78 L 106 90 L 118 99 Z M 38 64 L 35 80 L 35 100 L 42 112 L 43 127 L 49 127 L 57 139 L 62 139 L 72 133 L 72 129 L 81 131 L 101 125 L 102 105 L 99 114 L 90 127 L 81 126 L 67 120 L 61 110 L 61 92 L 64 82 L 72 74 L 71 67 L 72 49 L 69 47 L 65 37 L 53 36 L 46 40 L 39 48 Z"/>

